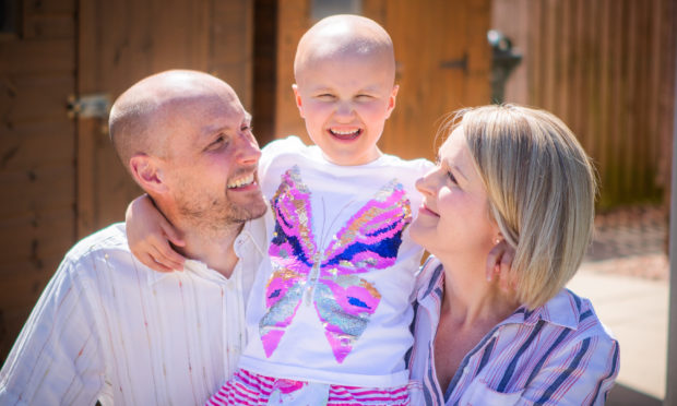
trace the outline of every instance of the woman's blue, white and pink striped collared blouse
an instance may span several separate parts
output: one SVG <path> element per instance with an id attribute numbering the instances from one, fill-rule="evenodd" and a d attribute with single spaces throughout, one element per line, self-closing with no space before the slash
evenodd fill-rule
<path id="1" fill-rule="evenodd" d="M 587 299 L 562 289 L 545 306 L 518 309 L 465 355 L 449 387 L 437 381 L 433 343 L 444 272 L 429 259 L 414 303 L 407 354 L 419 404 L 604 405 L 618 374 L 618 342 Z"/>

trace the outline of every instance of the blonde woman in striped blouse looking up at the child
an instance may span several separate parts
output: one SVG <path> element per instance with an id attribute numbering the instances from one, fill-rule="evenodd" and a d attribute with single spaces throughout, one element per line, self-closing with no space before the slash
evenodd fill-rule
<path id="1" fill-rule="evenodd" d="M 565 288 L 590 242 L 595 177 L 556 117 L 519 106 L 460 112 L 420 179 L 409 228 L 433 256 L 421 271 L 413 381 L 427 405 L 604 404 L 618 343 L 589 300 Z M 514 249 L 501 289 L 492 247 Z"/>

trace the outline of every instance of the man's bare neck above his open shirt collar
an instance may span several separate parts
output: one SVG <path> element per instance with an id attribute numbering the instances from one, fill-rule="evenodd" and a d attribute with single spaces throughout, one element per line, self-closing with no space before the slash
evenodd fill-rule
<path id="1" fill-rule="evenodd" d="M 179 250 L 186 258 L 201 261 L 225 277 L 230 277 L 238 261 L 233 244 L 242 227 L 241 223 L 217 230 L 197 230 L 194 227 L 186 227 L 189 229 L 183 232 L 186 246 L 180 247 Z"/>

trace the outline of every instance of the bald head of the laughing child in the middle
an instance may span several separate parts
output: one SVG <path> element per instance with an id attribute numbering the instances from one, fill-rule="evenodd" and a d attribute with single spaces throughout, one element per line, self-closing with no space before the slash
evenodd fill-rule
<path id="1" fill-rule="evenodd" d="M 377 142 L 395 107 L 395 58 L 390 36 L 358 15 L 321 20 L 301 37 L 294 95 L 308 135 L 336 165 L 377 159 Z"/>

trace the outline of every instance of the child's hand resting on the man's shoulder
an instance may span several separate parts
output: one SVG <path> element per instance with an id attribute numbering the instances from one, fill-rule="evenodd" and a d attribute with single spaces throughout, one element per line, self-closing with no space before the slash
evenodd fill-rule
<path id="1" fill-rule="evenodd" d="M 183 247 L 186 242 L 147 194 L 129 204 L 124 223 L 129 249 L 141 263 L 158 272 L 183 270 L 186 259 L 169 242 L 178 247 Z"/>

